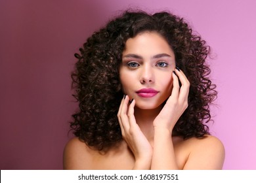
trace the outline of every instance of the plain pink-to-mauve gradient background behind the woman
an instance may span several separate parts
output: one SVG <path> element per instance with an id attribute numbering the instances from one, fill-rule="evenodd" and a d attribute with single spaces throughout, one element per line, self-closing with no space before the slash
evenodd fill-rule
<path id="1" fill-rule="evenodd" d="M 213 49 L 211 132 L 223 169 L 256 169 L 255 1 L 0 1 L 0 169 L 62 169 L 76 108 L 70 72 L 87 36 L 127 7 L 171 10 Z"/>

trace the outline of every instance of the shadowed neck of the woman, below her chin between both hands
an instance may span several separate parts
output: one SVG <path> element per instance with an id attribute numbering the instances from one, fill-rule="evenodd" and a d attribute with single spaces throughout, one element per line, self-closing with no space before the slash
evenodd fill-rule
<path id="1" fill-rule="evenodd" d="M 153 122 L 160 113 L 162 107 L 154 108 L 154 109 L 141 109 L 135 107 L 135 119 L 137 124 L 139 125 L 142 133 L 146 136 L 148 141 L 153 142 L 154 137 L 154 129 Z"/>

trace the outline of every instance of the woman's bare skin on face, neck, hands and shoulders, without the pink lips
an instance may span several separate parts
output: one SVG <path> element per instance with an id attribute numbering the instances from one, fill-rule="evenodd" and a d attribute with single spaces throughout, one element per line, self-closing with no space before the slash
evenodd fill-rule
<path id="1" fill-rule="evenodd" d="M 103 153 L 74 138 L 64 150 L 64 169 L 222 169 L 219 139 L 184 140 L 172 133 L 188 107 L 190 83 L 175 69 L 173 50 L 161 35 L 145 32 L 128 39 L 119 75 L 125 93 L 117 114 L 123 141 Z M 141 97 L 142 88 L 158 93 Z"/>

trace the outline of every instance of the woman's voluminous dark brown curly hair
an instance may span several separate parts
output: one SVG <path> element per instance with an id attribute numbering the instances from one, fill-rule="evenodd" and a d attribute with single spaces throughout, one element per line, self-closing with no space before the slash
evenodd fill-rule
<path id="1" fill-rule="evenodd" d="M 188 108 L 173 129 L 184 139 L 209 134 L 205 122 L 211 120 L 209 104 L 216 98 L 215 84 L 209 80 L 205 63 L 209 46 L 192 32 L 188 24 L 169 12 L 148 14 L 127 10 L 93 33 L 80 48 L 72 73 L 74 97 L 79 110 L 70 127 L 88 146 L 104 150 L 120 142 L 117 112 L 123 93 L 119 65 L 125 42 L 144 31 L 160 33 L 175 53 L 176 65 L 190 81 Z"/>

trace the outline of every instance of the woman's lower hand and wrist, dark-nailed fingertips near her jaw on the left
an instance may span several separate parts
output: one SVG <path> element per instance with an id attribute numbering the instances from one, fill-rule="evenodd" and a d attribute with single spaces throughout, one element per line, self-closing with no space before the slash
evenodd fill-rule
<path id="1" fill-rule="evenodd" d="M 117 113 L 121 134 L 135 156 L 133 169 L 150 169 L 153 153 L 152 146 L 135 120 L 134 107 L 135 100 L 129 103 L 129 96 L 125 95 Z"/>

